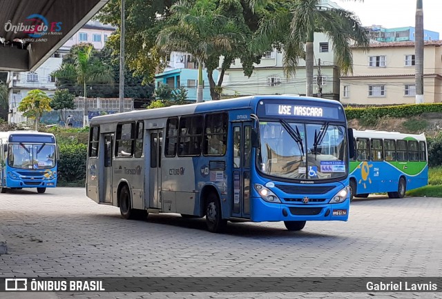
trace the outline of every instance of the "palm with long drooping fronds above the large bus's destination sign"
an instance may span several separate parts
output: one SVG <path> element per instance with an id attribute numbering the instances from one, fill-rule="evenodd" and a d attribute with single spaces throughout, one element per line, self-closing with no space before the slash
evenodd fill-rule
<path id="1" fill-rule="evenodd" d="M 296 0 L 262 20 L 255 48 L 281 45 L 285 49 L 285 72 L 294 74 L 299 58 L 305 58 L 306 94 L 313 95 L 314 32 L 323 32 L 333 43 L 338 67 L 343 74 L 352 73 L 350 45 L 367 47 L 369 37 L 358 17 L 336 8 L 323 9 L 319 0 Z M 305 50 L 304 50 L 305 48 Z"/>

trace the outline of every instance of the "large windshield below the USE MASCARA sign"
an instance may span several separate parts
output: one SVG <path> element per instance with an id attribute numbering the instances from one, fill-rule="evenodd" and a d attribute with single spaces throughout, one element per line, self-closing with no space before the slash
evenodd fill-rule
<path id="1" fill-rule="evenodd" d="M 328 180 L 347 174 L 344 125 L 260 122 L 258 167 L 268 176 Z"/>

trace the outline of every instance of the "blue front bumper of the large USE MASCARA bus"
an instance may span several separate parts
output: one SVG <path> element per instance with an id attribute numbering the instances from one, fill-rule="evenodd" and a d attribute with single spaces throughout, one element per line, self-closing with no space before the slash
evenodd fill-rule
<path id="1" fill-rule="evenodd" d="M 267 203 L 262 198 L 251 198 L 251 220 L 262 221 L 347 221 L 350 200 L 333 204 Z"/>

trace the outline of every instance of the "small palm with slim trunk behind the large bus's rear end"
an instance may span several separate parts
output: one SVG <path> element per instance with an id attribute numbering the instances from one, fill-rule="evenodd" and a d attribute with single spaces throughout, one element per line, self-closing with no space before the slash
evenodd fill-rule
<path id="1" fill-rule="evenodd" d="M 84 88 L 83 126 L 89 125 L 87 89 L 90 83 L 113 83 L 113 74 L 108 65 L 102 63 L 94 56 L 93 45 L 78 48 L 74 53 L 74 63 L 63 63 L 59 70 L 52 73 L 57 79 L 76 80 Z"/>

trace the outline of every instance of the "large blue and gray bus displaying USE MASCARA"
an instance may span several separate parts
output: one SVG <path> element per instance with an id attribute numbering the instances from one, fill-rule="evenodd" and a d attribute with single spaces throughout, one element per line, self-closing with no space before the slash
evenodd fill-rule
<path id="1" fill-rule="evenodd" d="M 96 116 L 90 122 L 87 196 L 124 218 L 148 213 L 227 221 L 349 216 L 343 106 L 302 96 L 246 96 Z"/>

